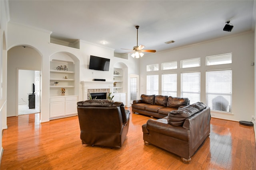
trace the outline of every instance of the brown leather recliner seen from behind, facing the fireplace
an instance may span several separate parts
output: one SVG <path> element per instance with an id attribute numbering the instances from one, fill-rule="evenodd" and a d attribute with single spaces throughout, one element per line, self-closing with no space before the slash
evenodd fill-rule
<path id="1" fill-rule="evenodd" d="M 128 133 L 130 111 L 122 102 L 86 100 L 77 103 L 82 144 L 120 148 Z"/>

